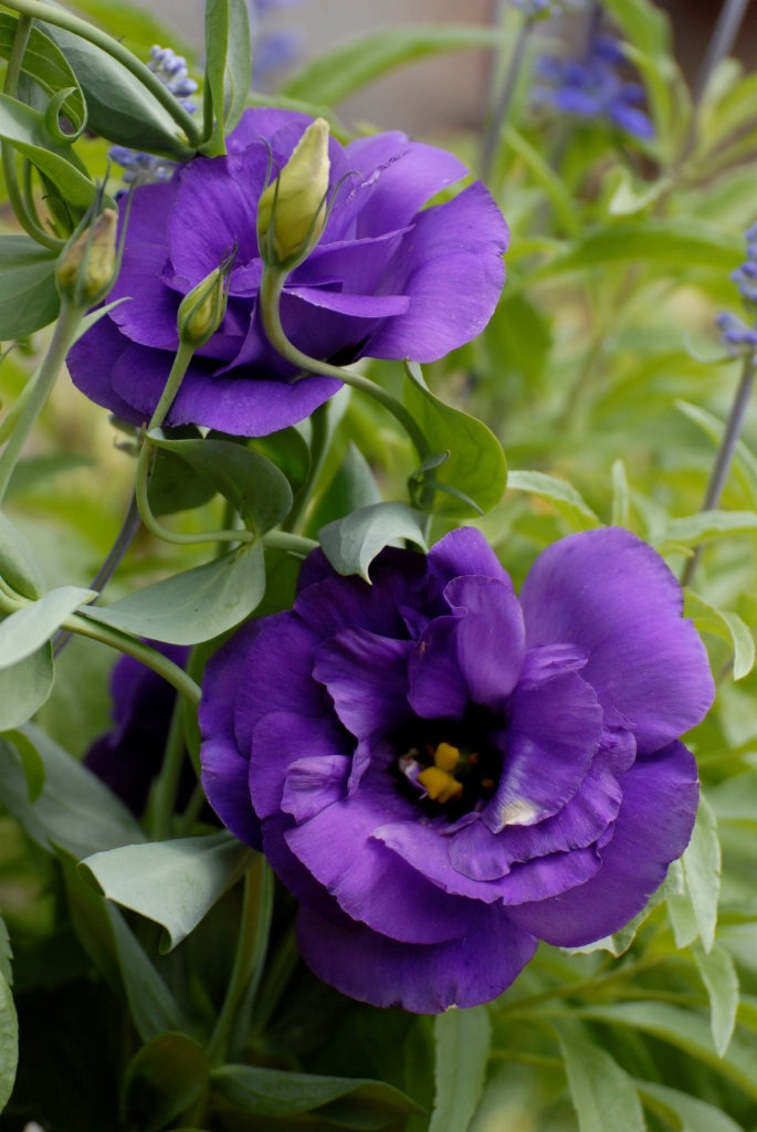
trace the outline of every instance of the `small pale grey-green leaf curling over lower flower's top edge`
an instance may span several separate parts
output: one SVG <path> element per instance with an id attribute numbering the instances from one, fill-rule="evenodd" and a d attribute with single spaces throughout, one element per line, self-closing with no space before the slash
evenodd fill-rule
<path id="1" fill-rule="evenodd" d="M 408 539 L 425 550 L 425 517 L 404 503 L 375 503 L 318 532 L 324 554 L 337 574 L 360 574 L 370 583 L 368 567 L 395 539 Z"/>

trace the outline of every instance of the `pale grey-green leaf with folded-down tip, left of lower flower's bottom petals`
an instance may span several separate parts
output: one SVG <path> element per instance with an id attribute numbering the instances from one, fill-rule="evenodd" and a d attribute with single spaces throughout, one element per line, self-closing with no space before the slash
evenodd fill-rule
<path id="1" fill-rule="evenodd" d="M 109 900 L 162 924 L 171 951 L 236 883 L 250 849 L 231 834 L 123 846 L 87 857 L 79 873 Z"/>

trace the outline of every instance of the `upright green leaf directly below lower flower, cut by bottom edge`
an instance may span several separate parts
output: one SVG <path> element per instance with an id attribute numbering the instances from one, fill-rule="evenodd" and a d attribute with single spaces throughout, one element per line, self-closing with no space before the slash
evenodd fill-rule
<path id="1" fill-rule="evenodd" d="M 436 1096 L 429 1132 L 464 1132 L 487 1077 L 491 1022 L 485 1006 L 449 1010 L 433 1020 Z"/>

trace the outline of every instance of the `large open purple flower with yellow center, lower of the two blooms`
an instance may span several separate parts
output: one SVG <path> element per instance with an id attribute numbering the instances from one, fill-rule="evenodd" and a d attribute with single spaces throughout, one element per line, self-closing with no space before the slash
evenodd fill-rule
<path id="1" fill-rule="evenodd" d="M 212 661 L 203 780 L 301 903 L 327 983 L 437 1012 L 505 990 L 539 940 L 616 932 L 686 848 L 712 698 L 659 555 L 554 543 L 521 600 L 475 530 L 388 549 L 372 585 L 302 571 L 292 611 Z"/>

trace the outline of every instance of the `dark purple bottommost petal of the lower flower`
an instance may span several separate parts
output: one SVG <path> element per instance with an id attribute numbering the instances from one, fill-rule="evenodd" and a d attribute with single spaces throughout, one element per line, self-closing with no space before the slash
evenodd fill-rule
<path id="1" fill-rule="evenodd" d="M 302 957 L 321 979 L 361 1002 L 418 1014 L 490 1002 L 536 950 L 536 940 L 494 908 L 476 932 L 433 946 L 387 940 L 347 916 L 337 921 L 308 908 L 296 928 Z"/>

